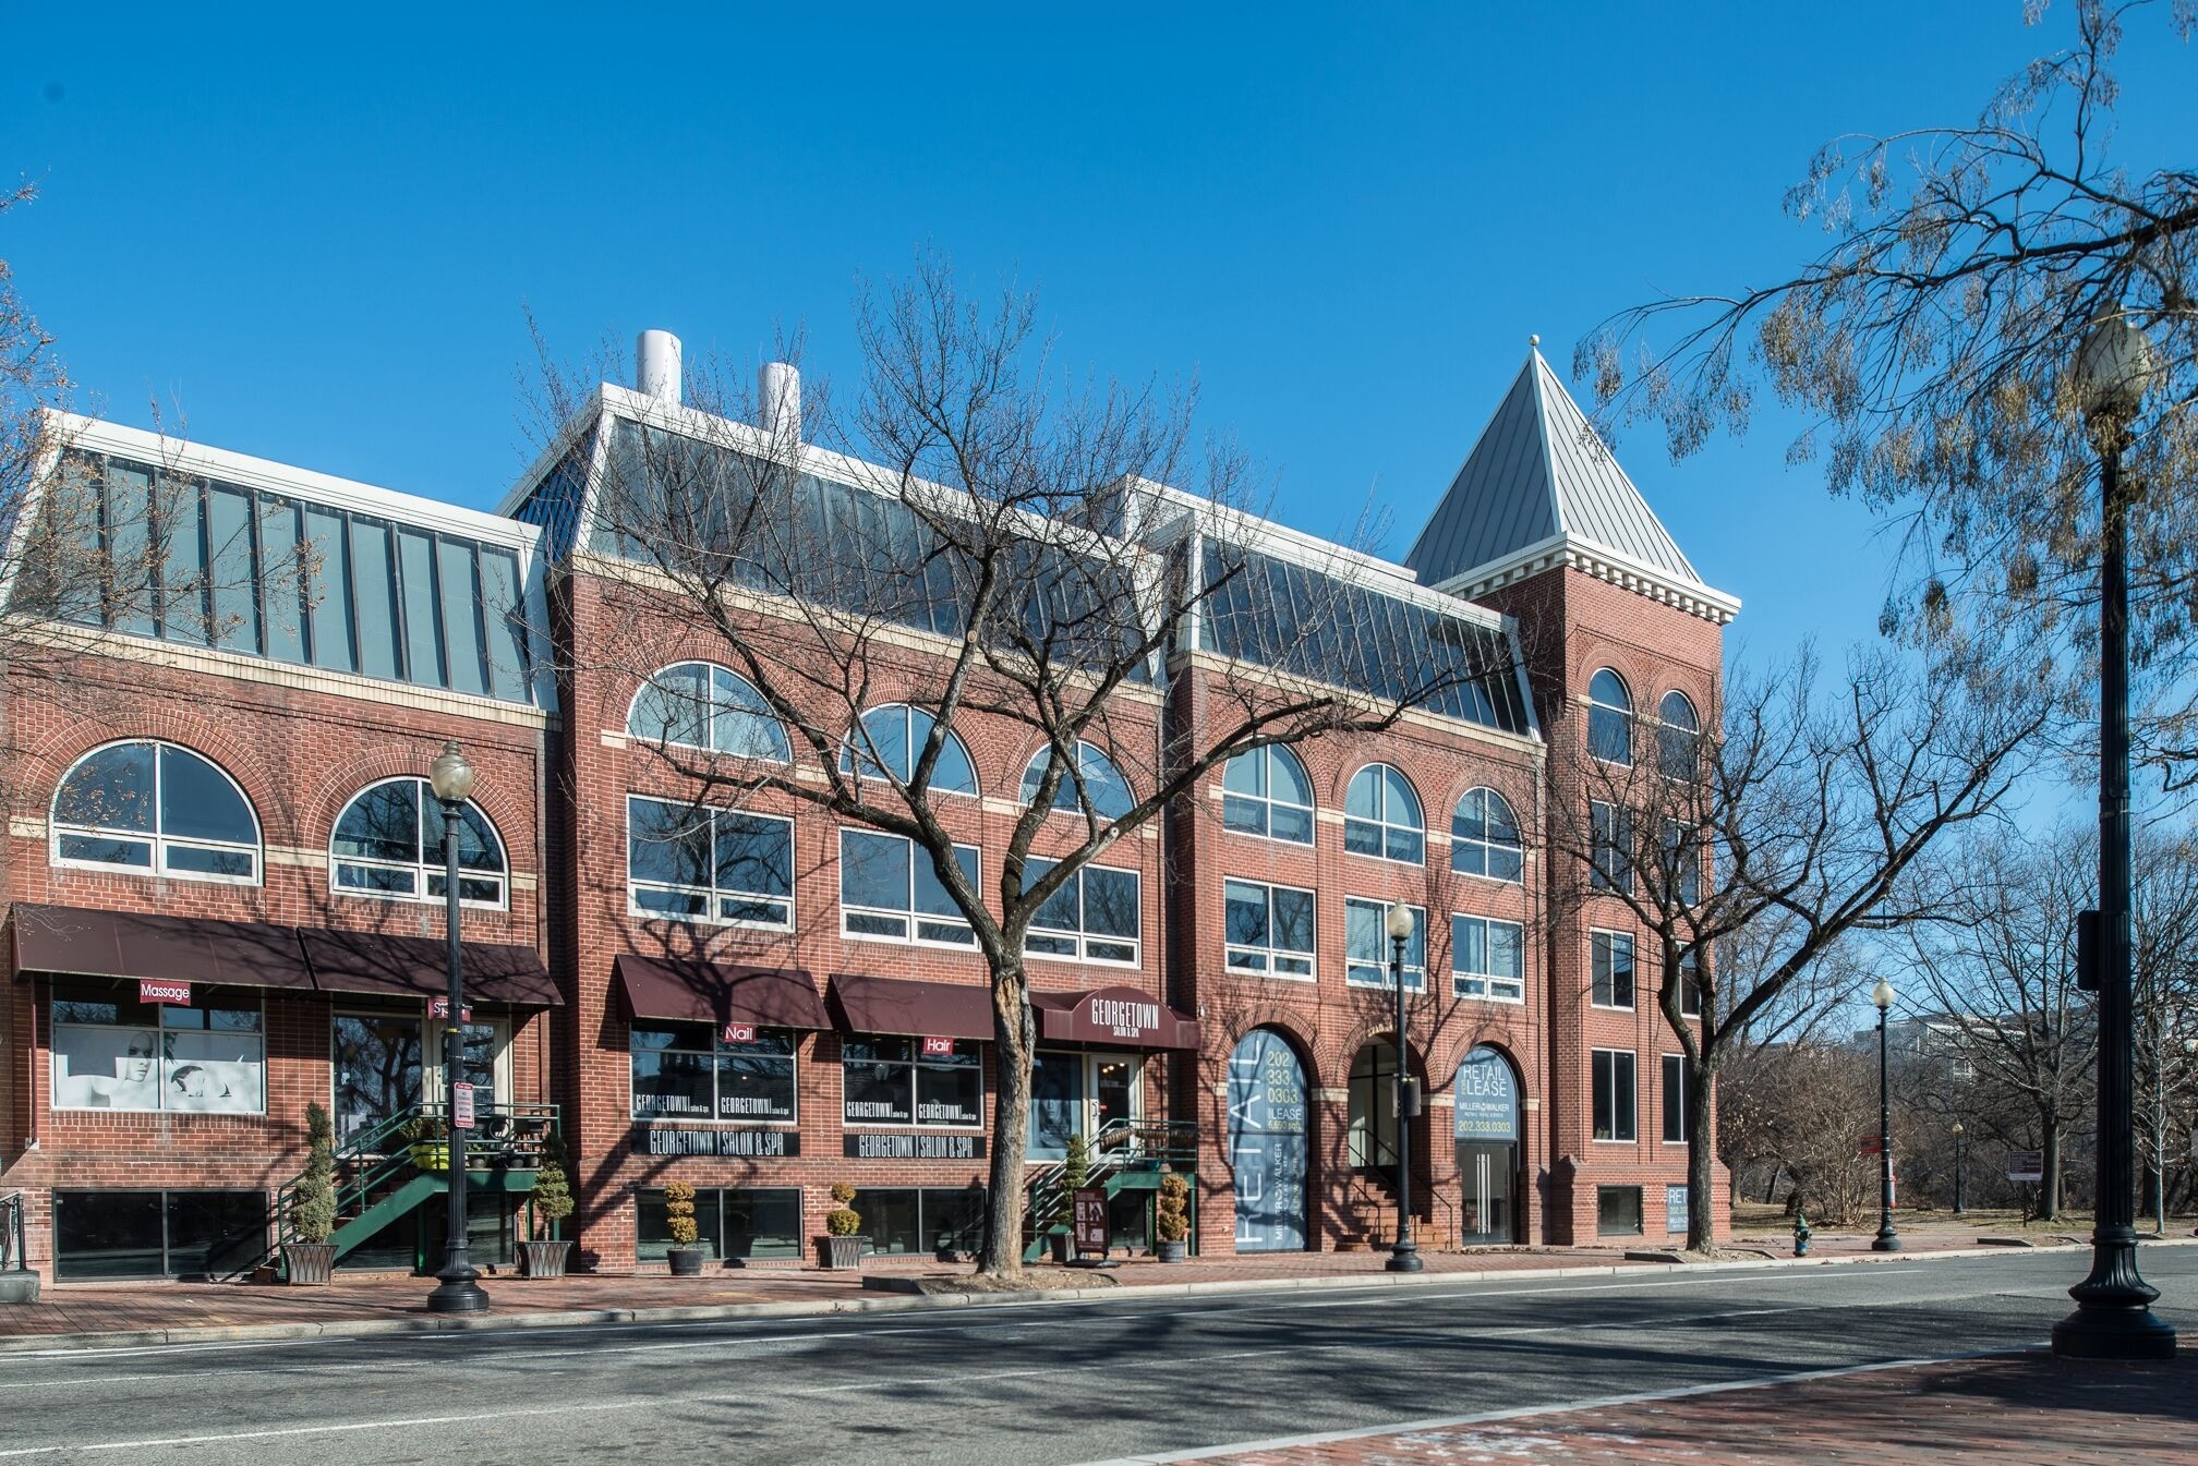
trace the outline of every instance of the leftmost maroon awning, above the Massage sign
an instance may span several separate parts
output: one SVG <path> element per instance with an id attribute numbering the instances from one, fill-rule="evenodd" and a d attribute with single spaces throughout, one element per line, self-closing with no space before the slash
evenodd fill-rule
<path id="1" fill-rule="evenodd" d="M 312 991 L 297 928 L 15 903 L 15 971 Z"/>

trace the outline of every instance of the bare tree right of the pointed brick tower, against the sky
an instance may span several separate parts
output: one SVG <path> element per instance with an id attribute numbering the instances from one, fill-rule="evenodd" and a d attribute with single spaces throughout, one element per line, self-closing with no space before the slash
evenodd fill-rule
<path id="1" fill-rule="evenodd" d="M 2051 699 L 2011 662 L 1813 655 L 1732 677 L 1714 734 L 1631 721 L 1552 752 L 1552 903 L 1622 906 L 1655 958 L 1655 1007 L 1690 1081 L 1688 1246 L 1714 1246 L 1719 1070 L 1822 1011 L 1851 936 L 1934 914 L 1934 842 L 1989 820 L 2024 774 Z M 1745 954 L 1745 963 L 1721 960 Z"/>

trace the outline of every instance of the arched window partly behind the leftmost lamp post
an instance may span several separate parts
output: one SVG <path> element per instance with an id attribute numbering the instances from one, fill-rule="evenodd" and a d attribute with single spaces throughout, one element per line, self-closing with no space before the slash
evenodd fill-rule
<path id="1" fill-rule="evenodd" d="M 334 888 L 387 901 L 442 901 L 442 802 L 424 778 L 367 785 L 336 815 L 328 842 Z M 457 899 L 503 906 L 503 842 L 473 800 L 457 811 Z"/>

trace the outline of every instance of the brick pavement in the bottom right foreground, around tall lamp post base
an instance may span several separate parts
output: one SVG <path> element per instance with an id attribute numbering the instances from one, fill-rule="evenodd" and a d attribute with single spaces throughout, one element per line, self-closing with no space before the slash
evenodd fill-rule
<path id="1" fill-rule="evenodd" d="M 1196 1459 L 1207 1466 L 2191 1466 L 2198 1352 L 2185 1350 L 2161 1365 L 2020 1354 L 1870 1369 Z"/>

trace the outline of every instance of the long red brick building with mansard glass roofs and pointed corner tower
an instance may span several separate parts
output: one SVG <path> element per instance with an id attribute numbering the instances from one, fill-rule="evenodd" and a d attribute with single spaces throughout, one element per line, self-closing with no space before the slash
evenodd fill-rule
<path id="1" fill-rule="evenodd" d="M 9 710 L 0 1196 L 29 1200 L 40 1266 L 231 1270 L 275 1242 L 308 1099 L 334 1103 L 363 1167 L 398 1150 L 376 1125 L 433 1110 L 433 800 L 387 780 L 424 776 L 446 738 L 479 767 L 462 886 L 477 1079 L 512 1125 L 560 1128 L 580 1266 L 657 1266 L 673 1178 L 699 1189 L 701 1242 L 723 1259 L 800 1257 L 840 1180 L 879 1251 L 974 1246 L 998 1075 L 967 925 L 899 837 L 712 782 L 758 765 L 824 780 L 835 749 L 848 769 L 906 758 L 952 642 L 892 624 L 857 701 L 820 688 L 793 725 L 765 706 L 723 631 L 622 536 L 602 486 L 635 444 L 761 455 L 785 422 L 706 420 L 677 374 L 651 387 L 607 385 L 499 517 L 77 424 L 73 462 L 101 503 L 134 503 L 138 477 L 191 486 L 200 554 L 163 567 L 182 598 L 73 618 L 97 622 L 73 646 L 84 695 Z M 1653 1123 L 1670 1044 L 1651 1004 L 1616 1000 L 1618 914 L 1554 899 L 1547 831 L 1569 791 L 1550 749 L 1589 736 L 1602 673 L 1640 725 L 1662 728 L 1681 695 L 1708 728 L 1736 602 L 1699 582 L 1580 431 L 1532 356 L 1407 565 L 1189 499 L 1139 525 L 1154 558 L 1246 567 L 1270 598 L 1218 596 L 1114 695 L 1106 745 L 1079 749 L 1097 789 L 1156 787 L 1167 749 L 1213 717 L 1222 673 L 1266 666 L 1266 607 L 1347 600 L 1462 670 L 1383 734 L 1215 769 L 1048 903 L 1026 947 L 1040 1191 L 1084 1134 L 1114 1233 L 1136 1246 L 1163 1158 L 1196 1169 L 1205 1253 L 1387 1240 L 1383 921 L 1405 903 L 1422 1244 L 1673 1224 L 1684 1147 Z M 811 448 L 802 473 L 826 517 L 892 508 L 862 464 Z M 95 519 L 103 554 L 141 554 L 127 521 Z M 242 567 L 244 598 L 222 565 Z M 791 633 L 756 598 L 736 635 Z M 1332 666 L 1380 690 L 1369 664 L 1339 651 Z M 1000 879 L 1035 749 L 1011 719 L 952 728 L 939 818 L 978 888 Z M 1059 844 L 1048 822 L 1035 857 L 1075 842 L 1055 818 Z M 174 980 L 189 1004 L 141 1000 Z M 215 1075 L 226 1101 L 209 1099 Z M 506 1262 L 525 1189 L 490 1196 L 477 1246 Z M 415 1211 L 354 1229 L 343 1266 L 433 1259 L 440 1207 Z"/>

